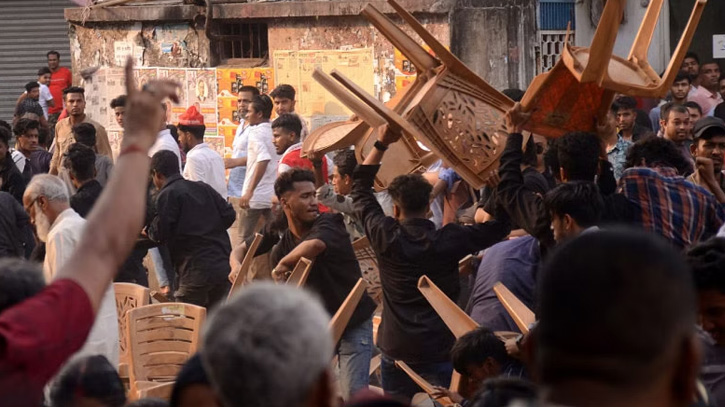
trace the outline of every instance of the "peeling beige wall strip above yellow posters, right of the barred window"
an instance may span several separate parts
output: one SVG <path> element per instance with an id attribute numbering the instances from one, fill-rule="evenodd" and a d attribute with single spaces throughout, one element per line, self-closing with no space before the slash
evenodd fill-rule
<path id="1" fill-rule="evenodd" d="M 448 16 L 417 15 L 421 23 L 443 45 L 450 42 Z M 397 23 L 413 38 L 420 40 L 413 31 Z M 274 50 L 321 50 L 372 47 L 375 57 L 375 93 L 388 100 L 395 95 L 394 47 L 367 20 L 358 16 L 334 18 L 279 19 L 269 24 L 270 55 Z M 273 61 L 271 61 L 273 62 Z"/>

